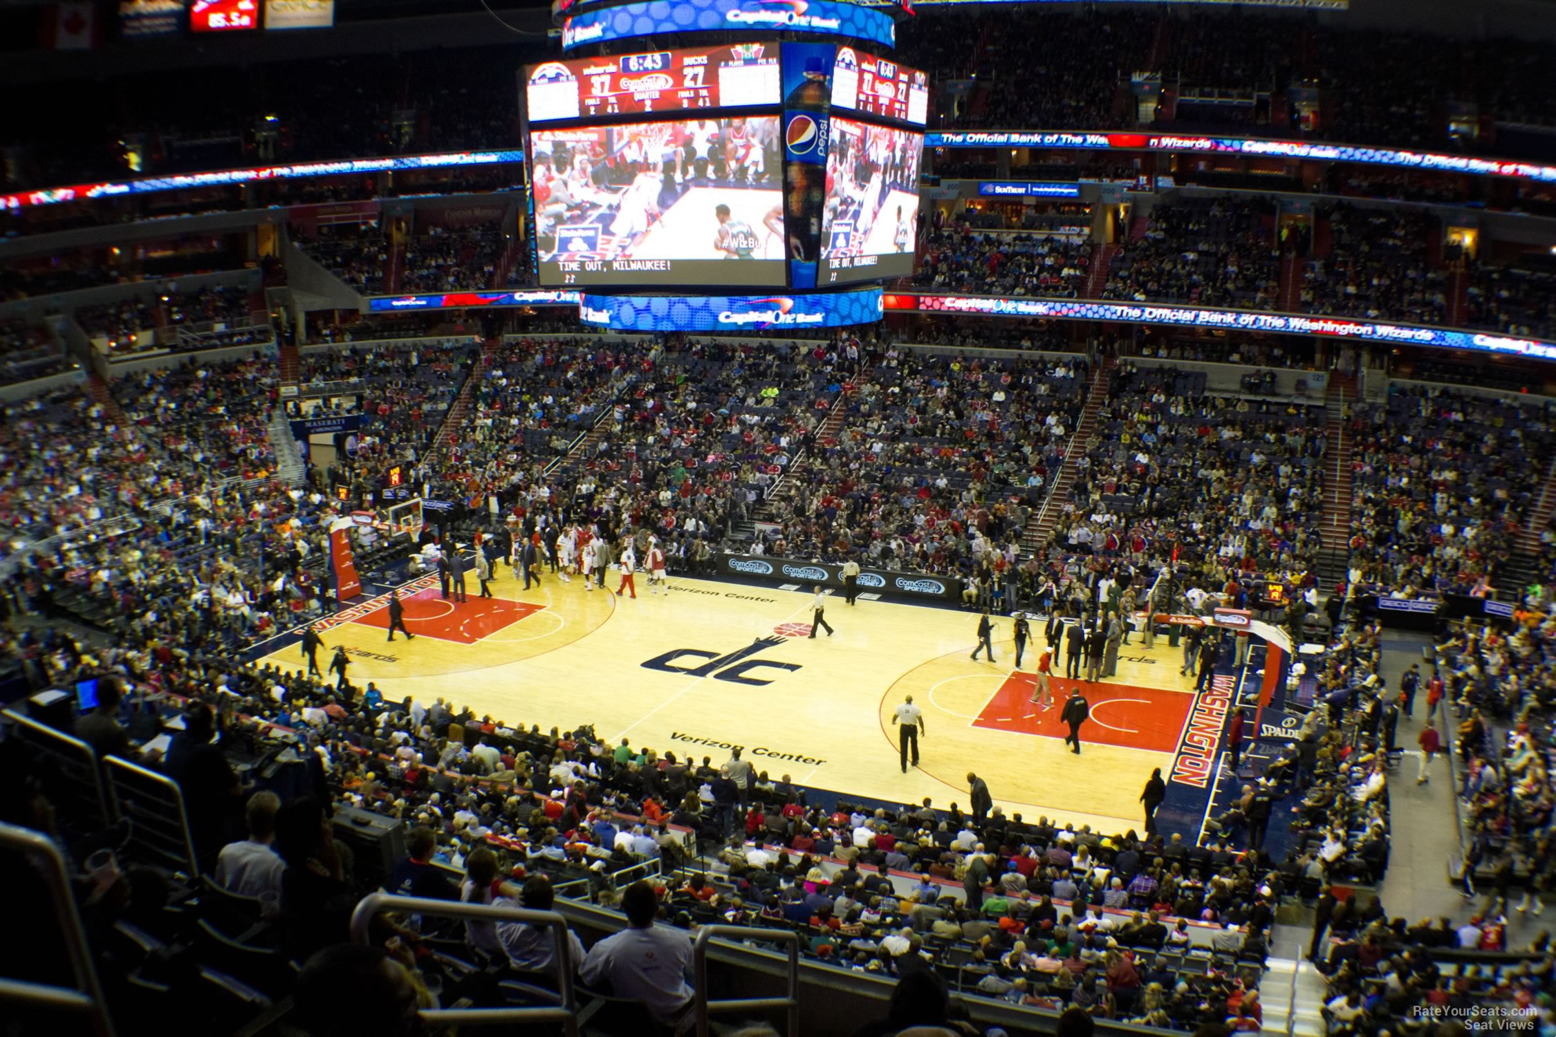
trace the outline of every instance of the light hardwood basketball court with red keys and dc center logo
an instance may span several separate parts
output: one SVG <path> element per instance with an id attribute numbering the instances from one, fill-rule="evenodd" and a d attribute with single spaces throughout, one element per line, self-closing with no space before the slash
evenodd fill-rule
<path id="1" fill-rule="evenodd" d="M 966 807 L 969 770 L 982 774 L 1007 812 L 1064 818 L 1108 830 L 1139 827 L 1137 798 L 1153 766 L 1170 770 L 1193 703 L 1178 676 L 1179 651 L 1158 639 L 1125 647 L 1119 675 L 1085 687 L 1092 720 L 1083 754 L 1063 743 L 1060 704 L 1069 681 L 1053 678 L 1055 707 L 1030 697 L 1041 645 L 1013 669 L 1010 620 L 996 620 L 997 662 L 972 662 L 971 613 L 862 600 L 826 609 L 836 636 L 808 639 L 811 594 L 711 580 L 671 580 L 650 594 L 638 575 L 636 600 L 585 592 L 582 581 L 546 577 L 524 591 L 509 569 L 495 599 L 445 600 L 422 580 L 405 597 L 414 642 L 387 644 L 380 603 L 324 631 L 352 656 L 358 686 L 377 681 L 384 698 L 442 697 L 478 715 L 568 729 L 593 723 L 613 743 L 661 754 L 728 759 L 744 746 L 758 771 L 842 793 L 893 802 L 930 796 Z M 615 574 L 607 585 L 616 586 Z M 296 645 L 268 659 L 300 661 Z M 1055 667 L 1055 672 L 1061 672 Z M 924 709 L 920 766 L 898 768 L 892 712 L 904 695 Z"/>

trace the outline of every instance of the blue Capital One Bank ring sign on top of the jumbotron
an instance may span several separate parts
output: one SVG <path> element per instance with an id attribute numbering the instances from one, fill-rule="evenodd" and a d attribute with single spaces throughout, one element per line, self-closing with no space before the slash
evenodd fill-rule
<path id="1" fill-rule="evenodd" d="M 562 50 L 683 33 L 806 33 L 896 45 L 890 14 L 836 0 L 677 0 L 577 11 L 562 23 Z"/>

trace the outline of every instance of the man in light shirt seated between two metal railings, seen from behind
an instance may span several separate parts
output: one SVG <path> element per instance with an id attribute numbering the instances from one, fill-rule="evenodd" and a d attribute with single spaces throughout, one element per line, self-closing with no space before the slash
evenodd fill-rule
<path id="1" fill-rule="evenodd" d="M 674 1023 L 691 1004 L 691 936 L 655 925 L 660 902 L 654 886 L 635 882 L 621 896 L 627 928 L 590 948 L 579 973 L 584 983 L 608 983 L 615 997 L 643 1001 L 654 1018 Z"/>

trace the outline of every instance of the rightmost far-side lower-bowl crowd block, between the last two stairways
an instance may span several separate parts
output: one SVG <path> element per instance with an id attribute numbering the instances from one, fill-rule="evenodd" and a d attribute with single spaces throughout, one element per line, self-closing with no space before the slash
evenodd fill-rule
<path id="1" fill-rule="evenodd" d="M 1404 597 L 1484 594 L 1550 463 L 1548 406 L 1393 389 L 1351 410 L 1351 575 Z"/>

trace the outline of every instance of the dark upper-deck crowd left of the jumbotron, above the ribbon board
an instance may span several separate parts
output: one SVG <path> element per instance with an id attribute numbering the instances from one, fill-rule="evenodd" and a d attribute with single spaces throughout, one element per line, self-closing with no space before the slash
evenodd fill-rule
<path id="1" fill-rule="evenodd" d="M 513 146 L 517 93 L 490 72 L 548 56 L 543 45 L 531 54 L 512 45 L 408 50 L 59 82 L 0 138 L 16 159 L 0 190 L 123 177 L 131 146 L 149 174 Z M 92 104 L 101 96 L 115 100 L 112 109 Z M 50 127 L 65 118 L 76 132 L 59 140 Z"/>

